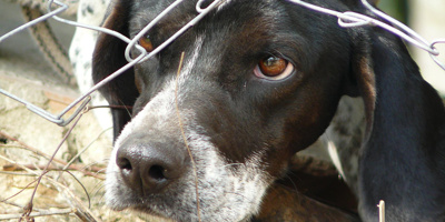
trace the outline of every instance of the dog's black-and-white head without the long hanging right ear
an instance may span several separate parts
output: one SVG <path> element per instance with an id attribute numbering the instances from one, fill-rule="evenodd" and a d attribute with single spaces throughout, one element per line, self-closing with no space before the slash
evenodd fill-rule
<path id="1" fill-rule="evenodd" d="M 364 11 L 358 0 L 312 2 Z M 132 38 L 170 3 L 119 0 L 105 26 Z M 140 43 L 148 51 L 162 43 L 197 14 L 196 3 L 184 1 Z M 287 1 L 225 1 L 101 90 L 111 104 L 134 108 L 112 111 L 120 135 L 108 204 L 180 221 L 250 218 L 289 159 L 328 127 L 342 95 L 360 94 L 373 122 L 370 38 Z M 127 63 L 125 48 L 99 38 L 96 81 Z"/>

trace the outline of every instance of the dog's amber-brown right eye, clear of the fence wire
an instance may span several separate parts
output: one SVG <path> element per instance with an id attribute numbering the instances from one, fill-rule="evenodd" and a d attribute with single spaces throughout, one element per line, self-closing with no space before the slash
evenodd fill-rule
<path id="1" fill-rule="evenodd" d="M 268 57 L 261 59 L 255 68 L 255 75 L 268 80 L 281 80 L 289 77 L 294 71 L 294 65 L 279 57 Z"/>

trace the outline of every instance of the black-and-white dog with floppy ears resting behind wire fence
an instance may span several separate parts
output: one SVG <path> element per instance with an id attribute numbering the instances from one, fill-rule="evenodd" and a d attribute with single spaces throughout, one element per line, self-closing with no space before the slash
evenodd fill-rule
<path id="1" fill-rule="evenodd" d="M 358 0 L 307 2 L 370 14 Z M 134 38 L 170 3 L 117 0 L 105 27 Z M 184 1 L 140 46 L 162 43 L 196 4 Z M 99 37 L 95 82 L 127 64 L 126 47 Z M 378 221 L 385 200 L 387 221 L 445 221 L 444 105 L 403 41 L 379 28 L 344 29 L 284 0 L 228 0 L 100 91 L 110 104 L 132 107 L 111 111 L 106 198 L 115 210 L 248 221 L 294 154 L 339 123 L 340 99 L 352 97 L 363 102 L 365 127 L 360 144 L 348 145 L 359 154 L 357 174 L 344 174 L 360 219 Z M 342 149 L 339 168 L 350 151 Z"/>

